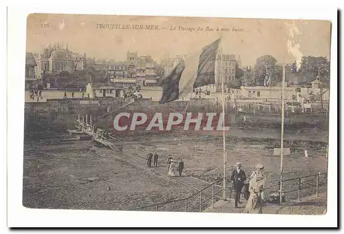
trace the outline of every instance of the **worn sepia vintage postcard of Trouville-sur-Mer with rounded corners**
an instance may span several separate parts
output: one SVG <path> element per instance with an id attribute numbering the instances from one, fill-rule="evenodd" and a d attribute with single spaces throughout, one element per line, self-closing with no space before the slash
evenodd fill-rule
<path id="1" fill-rule="evenodd" d="M 331 22 L 30 14 L 23 206 L 323 215 Z"/>

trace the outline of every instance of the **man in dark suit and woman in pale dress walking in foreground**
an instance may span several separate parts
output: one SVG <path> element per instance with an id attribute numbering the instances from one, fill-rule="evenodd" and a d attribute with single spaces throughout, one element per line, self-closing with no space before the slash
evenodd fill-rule
<path id="1" fill-rule="evenodd" d="M 244 213 L 263 213 L 264 185 L 266 176 L 264 175 L 264 165 L 257 164 L 256 170 L 252 171 L 250 178 L 246 179 L 246 173 L 241 169 L 240 162 L 235 164 L 230 180 L 233 182 L 235 192 L 235 208 L 240 202 L 241 190 L 244 188 L 244 198 L 248 200 Z"/>

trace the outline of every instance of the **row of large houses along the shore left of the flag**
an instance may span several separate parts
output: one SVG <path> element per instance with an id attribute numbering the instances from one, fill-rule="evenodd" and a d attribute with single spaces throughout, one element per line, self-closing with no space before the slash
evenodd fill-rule
<path id="1" fill-rule="evenodd" d="M 58 74 L 74 72 L 85 67 L 94 67 L 106 72 L 113 83 L 125 85 L 156 85 L 159 65 L 149 55 L 138 56 L 137 52 L 127 52 L 125 61 L 87 58 L 86 54 L 78 54 L 61 43 L 49 45 L 41 54 L 26 53 L 25 80 L 40 81 L 44 73 Z"/>

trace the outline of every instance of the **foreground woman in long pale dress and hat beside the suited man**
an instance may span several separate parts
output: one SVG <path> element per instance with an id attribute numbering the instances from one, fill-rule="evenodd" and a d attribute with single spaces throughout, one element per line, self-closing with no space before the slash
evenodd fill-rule
<path id="1" fill-rule="evenodd" d="M 250 197 L 244 213 L 263 213 L 262 193 L 264 191 L 264 184 L 266 177 L 263 173 L 264 166 L 257 164 L 257 171 L 253 171 L 250 176 L 250 184 L 248 190 Z"/>

